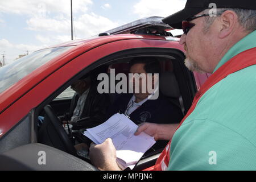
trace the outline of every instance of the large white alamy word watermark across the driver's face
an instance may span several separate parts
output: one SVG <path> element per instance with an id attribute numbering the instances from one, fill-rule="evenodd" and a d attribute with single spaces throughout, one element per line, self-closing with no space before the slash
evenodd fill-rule
<path id="1" fill-rule="evenodd" d="M 148 94 L 149 100 L 156 100 L 159 96 L 159 74 L 158 73 L 125 73 L 115 75 L 115 69 L 110 69 L 110 77 L 106 73 L 100 73 L 97 80 L 100 80 L 98 93 L 144 93 Z M 119 81 L 117 84 L 116 81 Z M 128 88 L 127 88 L 128 86 Z"/>

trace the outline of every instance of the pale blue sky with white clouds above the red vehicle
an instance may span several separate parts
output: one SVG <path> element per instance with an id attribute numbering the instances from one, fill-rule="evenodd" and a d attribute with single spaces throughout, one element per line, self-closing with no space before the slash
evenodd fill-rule
<path id="1" fill-rule="evenodd" d="M 27 51 L 71 40 L 70 2 L 0 1 L 0 55 L 5 53 L 7 64 Z M 184 6 L 185 0 L 73 0 L 75 39 L 146 16 L 168 16 Z"/>

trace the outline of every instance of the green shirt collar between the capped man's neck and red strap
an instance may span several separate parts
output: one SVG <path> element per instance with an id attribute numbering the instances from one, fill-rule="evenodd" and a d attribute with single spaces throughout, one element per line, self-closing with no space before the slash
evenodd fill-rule
<path id="1" fill-rule="evenodd" d="M 217 64 L 213 73 L 217 71 L 222 65 L 224 65 L 228 60 L 232 59 L 232 57 L 238 55 L 239 53 L 246 51 L 247 49 L 251 49 L 256 47 L 256 30 L 251 32 L 242 38 L 239 42 L 234 44 L 232 48 L 222 57 L 221 61 Z"/>

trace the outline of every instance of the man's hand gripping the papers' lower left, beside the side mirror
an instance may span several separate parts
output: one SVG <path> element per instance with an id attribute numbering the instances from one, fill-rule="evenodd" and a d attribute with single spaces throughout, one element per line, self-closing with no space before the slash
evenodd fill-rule
<path id="1" fill-rule="evenodd" d="M 117 165 L 117 153 L 112 139 L 108 138 L 101 144 L 90 144 L 90 160 L 101 171 L 120 171 Z"/>

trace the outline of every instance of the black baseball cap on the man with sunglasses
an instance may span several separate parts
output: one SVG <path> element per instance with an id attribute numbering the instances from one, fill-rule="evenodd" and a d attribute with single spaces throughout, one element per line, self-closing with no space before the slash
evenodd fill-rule
<path id="1" fill-rule="evenodd" d="M 211 9 L 210 3 L 215 3 L 217 8 L 256 10 L 256 0 L 187 0 L 183 10 L 167 16 L 162 21 L 173 28 L 181 29 L 183 20 L 191 18 L 205 9 Z"/>

